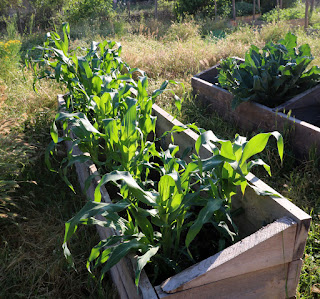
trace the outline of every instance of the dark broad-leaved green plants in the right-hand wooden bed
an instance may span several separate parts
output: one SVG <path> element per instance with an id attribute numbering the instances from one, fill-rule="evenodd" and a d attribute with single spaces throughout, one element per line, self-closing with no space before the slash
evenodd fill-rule
<path id="1" fill-rule="evenodd" d="M 297 37 L 287 33 L 278 44 L 266 44 L 262 53 L 251 46 L 243 63 L 222 60 L 218 81 L 234 95 L 233 109 L 249 101 L 273 108 L 319 83 L 320 68 L 306 70 L 312 60 L 310 46 L 297 49 Z"/>

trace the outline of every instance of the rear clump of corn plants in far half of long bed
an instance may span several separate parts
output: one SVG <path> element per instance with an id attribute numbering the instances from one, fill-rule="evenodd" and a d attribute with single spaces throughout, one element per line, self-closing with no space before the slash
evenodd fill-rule
<path id="1" fill-rule="evenodd" d="M 147 142 L 150 133 L 155 133 L 156 118 L 151 115 L 152 105 L 168 84 L 177 83 L 166 80 L 149 95 L 146 74 L 121 61 L 120 44 L 92 42 L 90 49 L 82 49 L 84 56 L 76 56 L 74 51 L 69 51 L 69 33 L 66 23 L 63 25 L 63 40 L 56 32 L 47 34 L 44 46 L 33 49 L 41 50 L 41 55 L 37 59 L 30 56 L 29 61 L 35 71 L 35 81 L 55 79 L 64 83 L 69 91 L 65 96 L 64 109 L 67 112 L 58 113 L 55 120 L 64 122 L 66 135 L 59 139 L 53 123 L 53 142 L 48 147 L 46 162 L 50 167 L 49 156 L 58 141 L 72 140 L 73 146 L 89 153 L 95 164 L 109 171 L 135 172 L 138 178 L 144 172 L 140 161 L 148 161 L 155 152 L 154 145 Z M 134 80 L 133 76 L 137 74 L 140 77 Z M 180 99 L 174 97 L 180 108 Z M 72 123 L 72 130 L 68 130 L 68 121 Z M 83 155 L 75 157 L 71 151 L 63 161 L 66 165 L 62 170 L 63 178 L 72 189 L 66 177 L 67 167 L 87 159 L 88 156 Z M 148 170 L 146 180 L 147 175 Z"/>

